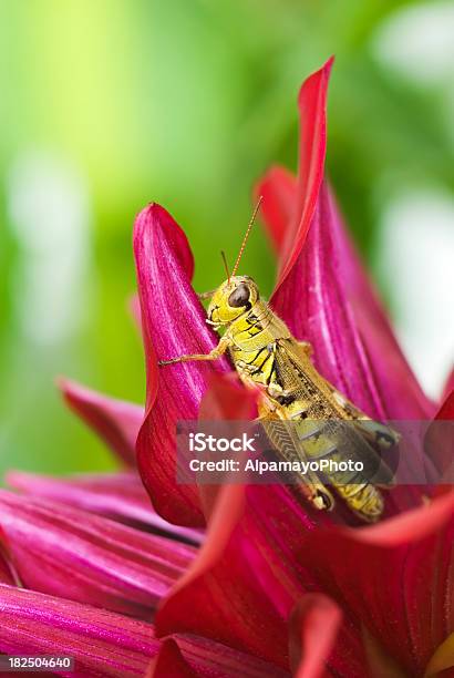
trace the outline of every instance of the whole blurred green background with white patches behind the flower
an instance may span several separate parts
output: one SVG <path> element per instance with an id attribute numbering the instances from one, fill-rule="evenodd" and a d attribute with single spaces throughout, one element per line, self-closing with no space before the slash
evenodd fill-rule
<path id="1" fill-rule="evenodd" d="M 296 168 L 297 92 L 331 53 L 329 174 L 436 394 L 454 337 L 453 33 L 446 2 L 1 1 L 2 469 L 112 468 L 53 379 L 143 401 L 135 214 L 164 204 L 196 288 L 218 282 L 254 181 Z M 271 289 L 259 230 L 245 266 Z"/>

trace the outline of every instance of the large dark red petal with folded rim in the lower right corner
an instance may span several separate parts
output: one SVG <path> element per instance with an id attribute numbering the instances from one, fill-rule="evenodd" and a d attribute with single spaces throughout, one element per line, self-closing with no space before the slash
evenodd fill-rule
<path id="1" fill-rule="evenodd" d="M 364 528 L 307 535 L 301 562 L 412 676 L 454 629 L 454 493 Z"/>

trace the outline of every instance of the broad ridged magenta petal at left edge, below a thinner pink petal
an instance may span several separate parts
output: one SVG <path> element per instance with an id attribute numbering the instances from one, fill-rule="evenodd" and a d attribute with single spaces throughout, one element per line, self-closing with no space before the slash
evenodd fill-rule
<path id="1" fill-rule="evenodd" d="M 24 586 L 148 617 L 193 546 L 62 504 L 0 491 L 0 526 Z"/>

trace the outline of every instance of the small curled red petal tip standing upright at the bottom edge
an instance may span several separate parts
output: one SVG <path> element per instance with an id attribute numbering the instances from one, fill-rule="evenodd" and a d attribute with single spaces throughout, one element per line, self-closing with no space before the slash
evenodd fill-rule
<path id="1" fill-rule="evenodd" d="M 290 619 L 290 666 L 296 678 L 319 678 L 326 671 L 342 620 L 338 605 L 323 594 L 307 594 Z"/>

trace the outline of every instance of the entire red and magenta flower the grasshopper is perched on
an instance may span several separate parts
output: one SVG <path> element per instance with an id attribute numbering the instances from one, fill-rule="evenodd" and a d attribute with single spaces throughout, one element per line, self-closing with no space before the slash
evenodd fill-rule
<path id="1" fill-rule="evenodd" d="M 320 372 L 368 414 L 429 419 L 435 407 L 323 179 L 330 68 L 300 92 L 298 179 L 275 167 L 258 186 L 279 257 L 271 306 L 297 338 L 311 341 Z M 163 207 L 140 214 L 134 249 L 145 414 L 75 384 L 64 391 L 126 463 L 138 433 L 138 469 L 156 512 L 134 470 L 66 481 L 10 474 L 31 497 L 0 495 L 9 549 L 0 650 L 64 647 L 82 662 L 80 675 L 135 675 L 151 657 L 156 676 L 413 677 L 453 667 L 452 493 L 425 502 L 423 489 L 401 485 L 386 494 L 385 520 L 360 527 L 340 502 L 333 514 L 316 512 L 280 485 L 217 492 L 177 484 L 176 421 L 195 419 L 200 408 L 247 419 L 256 396 L 225 378 L 227 359 L 157 369 L 156 357 L 208 352 L 217 339 L 190 285 L 186 237 Z M 452 418 L 453 402 L 451 392 L 440 417 Z M 409 469 L 417 461 L 404 459 Z M 43 593 L 17 588 L 14 576 Z M 144 617 L 156 605 L 154 630 L 124 616 Z M 95 649 L 83 664 L 87 639 Z"/>

